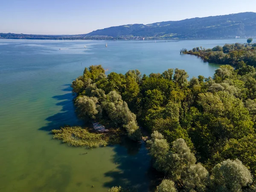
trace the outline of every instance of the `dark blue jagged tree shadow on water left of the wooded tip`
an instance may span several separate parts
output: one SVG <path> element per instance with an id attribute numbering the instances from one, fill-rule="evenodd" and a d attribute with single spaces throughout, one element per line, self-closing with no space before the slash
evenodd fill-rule
<path id="1" fill-rule="evenodd" d="M 83 125 L 81 119 L 79 119 L 75 113 L 75 106 L 74 106 L 74 96 L 71 93 L 72 88 L 70 84 L 65 84 L 62 91 L 69 91 L 69 93 L 65 93 L 63 95 L 53 96 L 53 99 L 56 99 L 58 102 L 55 104 L 57 106 L 61 106 L 60 112 L 47 117 L 47 125 L 41 127 L 40 130 L 42 131 L 51 131 L 52 129 L 58 129 L 65 125 Z"/>

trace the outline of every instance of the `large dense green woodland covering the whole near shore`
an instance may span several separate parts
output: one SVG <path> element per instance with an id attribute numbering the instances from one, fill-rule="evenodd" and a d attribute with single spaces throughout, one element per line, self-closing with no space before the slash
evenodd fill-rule
<path id="1" fill-rule="evenodd" d="M 140 140 L 138 124 L 152 133 L 154 168 L 165 175 L 158 192 L 255 191 L 255 69 L 223 65 L 213 78 L 188 77 L 180 69 L 106 76 L 98 65 L 72 87 L 82 118 L 122 128 L 133 140 Z"/>

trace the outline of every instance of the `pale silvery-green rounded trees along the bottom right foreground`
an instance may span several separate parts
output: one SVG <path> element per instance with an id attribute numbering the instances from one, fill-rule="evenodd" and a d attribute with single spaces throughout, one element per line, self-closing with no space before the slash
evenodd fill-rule
<path id="1" fill-rule="evenodd" d="M 238 159 L 224 160 L 207 169 L 196 162 L 193 154 L 183 139 L 172 142 L 170 147 L 163 135 L 154 131 L 148 142 L 154 167 L 168 180 L 157 186 L 157 192 L 242 192 L 256 190 L 250 184 L 253 176 Z"/>

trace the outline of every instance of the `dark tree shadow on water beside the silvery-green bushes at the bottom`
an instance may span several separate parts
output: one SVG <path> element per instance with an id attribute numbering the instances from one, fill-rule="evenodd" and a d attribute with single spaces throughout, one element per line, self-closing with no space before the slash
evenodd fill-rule
<path id="1" fill-rule="evenodd" d="M 122 142 L 115 145 L 113 163 L 116 169 L 105 173 L 105 177 L 111 177 L 110 182 L 104 183 L 105 187 L 112 186 L 134 187 L 139 192 L 148 192 L 150 179 L 148 177 L 151 159 L 145 143 Z"/>

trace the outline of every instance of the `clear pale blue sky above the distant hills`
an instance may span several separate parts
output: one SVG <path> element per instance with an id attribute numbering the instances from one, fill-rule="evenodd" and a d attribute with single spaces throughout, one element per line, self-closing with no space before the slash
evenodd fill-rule
<path id="1" fill-rule="evenodd" d="M 256 0 L 0 0 L 0 33 L 75 35 L 239 12 L 256 12 Z"/>

